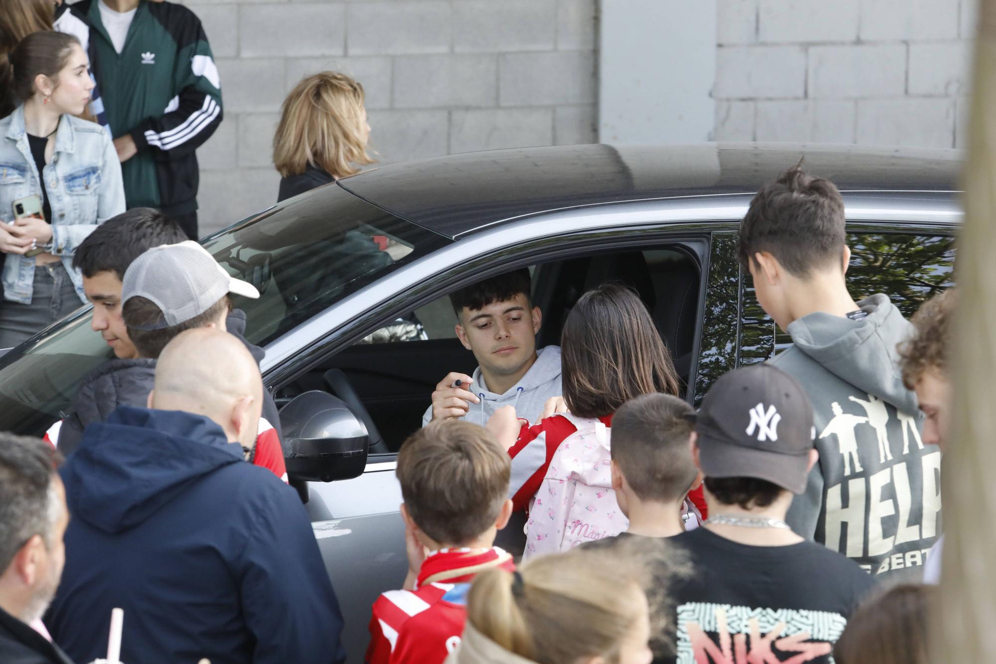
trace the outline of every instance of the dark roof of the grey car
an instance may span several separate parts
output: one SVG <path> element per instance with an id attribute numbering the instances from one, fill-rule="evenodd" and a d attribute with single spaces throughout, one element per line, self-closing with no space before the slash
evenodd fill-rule
<path id="1" fill-rule="evenodd" d="M 842 191 L 951 191 L 961 153 L 860 146 L 698 144 L 521 148 L 382 166 L 339 180 L 447 237 L 555 209 L 754 193 L 803 160 Z"/>

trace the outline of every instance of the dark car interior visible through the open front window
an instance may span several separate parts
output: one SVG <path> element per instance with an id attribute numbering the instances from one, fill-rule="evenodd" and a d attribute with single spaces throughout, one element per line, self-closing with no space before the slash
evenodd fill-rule
<path id="1" fill-rule="evenodd" d="M 602 251 L 532 266 L 532 299 L 543 312 L 537 348 L 559 345 L 561 330 L 578 298 L 602 283 L 633 288 L 646 304 L 661 338 L 687 383 L 697 334 L 700 260 L 688 247 L 657 245 Z M 424 330 L 410 340 L 372 335 L 282 387 L 279 405 L 308 390 L 343 399 L 366 420 L 372 455 L 392 455 L 421 426 L 439 380 L 450 371 L 473 372 L 473 354 L 456 338 L 456 316 L 443 295 L 405 317 Z M 379 338 L 388 339 L 377 343 Z M 373 461 L 373 459 L 372 459 Z"/>

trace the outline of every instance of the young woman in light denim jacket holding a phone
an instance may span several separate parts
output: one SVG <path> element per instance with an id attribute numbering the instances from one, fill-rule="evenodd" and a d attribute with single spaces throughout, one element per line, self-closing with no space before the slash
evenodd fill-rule
<path id="1" fill-rule="evenodd" d="M 36 32 L 9 55 L 21 104 L 0 120 L 0 348 L 16 346 L 86 301 L 73 252 L 124 212 L 121 164 L 100 125 L 76 118 L 94 88 L 80 41 Z M 41 214 L 28 214 L 41 201 Z"/>

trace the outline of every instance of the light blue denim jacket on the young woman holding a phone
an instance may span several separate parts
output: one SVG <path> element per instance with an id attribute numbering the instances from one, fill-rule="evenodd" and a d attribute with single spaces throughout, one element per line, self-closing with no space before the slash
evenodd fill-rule
<path id="1" fill-rule="evenodd" d="M 14 220 L 13 203 L 42 195 L 42 180 L 28 146 L 24 106 L 0 120 L 0 221 Z M 122 166 L 114 142 L 100 125 L 65 115 L 59 121 L 52 162 L 42 171 L 52 207 L 52 253 L 73 279 L 80 299 L 83 275 L 73 269 L 73 253 L 94 228 L 124 212 Z M 35 259 L 4 254 L 3 297 L 31 304 Z"/>

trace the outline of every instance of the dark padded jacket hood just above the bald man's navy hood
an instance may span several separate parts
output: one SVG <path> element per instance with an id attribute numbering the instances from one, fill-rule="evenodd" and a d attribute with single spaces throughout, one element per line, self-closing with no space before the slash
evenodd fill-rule
<path id="1" fill-rule="evenodd" d="M 87 374 L 73 397 L 82 427 L 104 422 L 119 406 L 145 405 L 155 381 L 155 360 L 109 360 Z"/>

